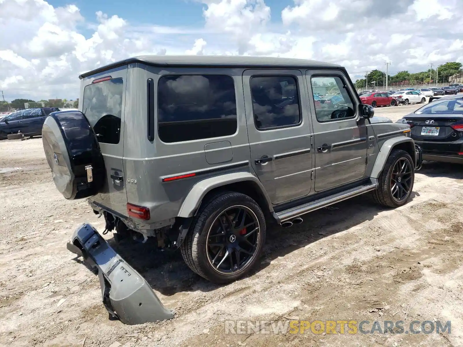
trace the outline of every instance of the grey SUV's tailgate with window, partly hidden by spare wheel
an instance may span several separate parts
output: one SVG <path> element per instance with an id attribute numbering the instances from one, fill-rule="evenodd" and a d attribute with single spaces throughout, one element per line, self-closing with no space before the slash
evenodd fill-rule
<path id="1" fill-rule="evenodd" d="M 124 66 L 87 77 L 81 86 L 81 111 L 93 127 L 106 167 L 105 186 L 93 200 L 122 215 L 127 214 L 122 164 L 126 79 Z"/>

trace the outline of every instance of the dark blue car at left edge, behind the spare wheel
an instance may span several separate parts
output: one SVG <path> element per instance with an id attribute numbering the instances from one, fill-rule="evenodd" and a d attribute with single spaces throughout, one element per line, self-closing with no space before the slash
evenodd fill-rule
<path id="1" fill-rule="evenodd" d="M 0 120 L 0 140 L 7 138 L 8 134 L 23 133 L 25 136 L 42 135 L 42 126 L 45 118 L 58 111 L 56 107 L 36 107 L 15 111 Z"/>

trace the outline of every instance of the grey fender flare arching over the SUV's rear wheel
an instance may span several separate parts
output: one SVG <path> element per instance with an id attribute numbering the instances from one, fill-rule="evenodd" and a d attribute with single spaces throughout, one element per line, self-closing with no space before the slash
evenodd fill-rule
<path id="1" fill-rule="evenodd" d="M 193 186 L 193 188 L 191 188 L 191 190 L 188 192 L 188 195 L 185 198 L 185 200 L 183 200 L 183 203 L 181 204 L 180 210 L 178 212 L 178 217 L 193 217 L 194 213 L 200 206 L 200 203 L 204 196 L 212 189 L 225 186 L 227 184 L 243 181 L 251 181 L 259 187 L 262 195 L 267 201 L 267 205 L 269 206 L 270 212 L 272 212 L 272 203 L 270 202 L 270 199 L 259 179 L 257 179 L 256 176 L 249 172 L 235 172 L 232 174 L 214 176 L 196 183 Z"/>

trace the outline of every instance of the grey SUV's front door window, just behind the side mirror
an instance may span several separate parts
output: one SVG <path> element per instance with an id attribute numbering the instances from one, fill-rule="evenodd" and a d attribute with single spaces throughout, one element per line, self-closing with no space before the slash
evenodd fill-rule
<path id="1" fill-rule="evenodd" d="M 311 83 L 312 87 L 325 87 L 329 93 L 337 93 L 327 95 L 324 103 L 315 104 L 315 115 L 319 122 L 355 117 L 354 103 L 340 77 L 312 77 Z"/>

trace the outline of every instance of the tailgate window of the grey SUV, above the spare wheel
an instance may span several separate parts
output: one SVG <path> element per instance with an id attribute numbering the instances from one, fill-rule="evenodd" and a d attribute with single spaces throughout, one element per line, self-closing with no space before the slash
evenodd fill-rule
<path id="1" fill-rule="evenodd" d="M 90 84 L 84 89 L 83 112 L 101 143 L 119 143 L 122 78 Z"/>

